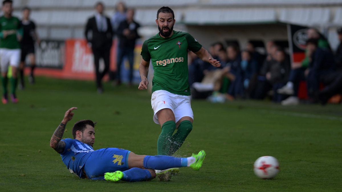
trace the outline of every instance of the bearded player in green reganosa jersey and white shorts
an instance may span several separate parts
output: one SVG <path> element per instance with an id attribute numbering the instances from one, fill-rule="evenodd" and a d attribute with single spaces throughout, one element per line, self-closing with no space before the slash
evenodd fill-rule
<path id="1" fill-rule="evenodd" d="M 156 24 L 159 33 L 143 43 L 139 72 L 139 90 L 147 89 L 150 60 L 154 69 L 151 105 L 153 120 L 160 124 L 158 155 L 173 155 L 192 130 L 194 119 L 190 105 L 187 50 L 194 52 L 203 61 L 220 67 L 207 50 L 189 33 L 174 31 L 174 13 L 163 6 L 157 12 Z M 173 132 L 177 129 L 177 132 Z M 178 169 L 161 170 L 156 173 L 178 172 Z"/>

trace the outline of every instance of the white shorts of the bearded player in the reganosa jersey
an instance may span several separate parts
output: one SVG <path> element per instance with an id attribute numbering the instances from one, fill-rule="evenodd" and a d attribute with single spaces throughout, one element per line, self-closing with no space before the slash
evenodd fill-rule
<path id="1" fill-rule="evenodd" d="M 194 119 L 190 96 L 177 95 L 165 90 L 158 90 L 152 93 L 151 105 L 154 112 L 153 121 L 157 124 L 159 124 L 157 112 L 165 108 L 173 111 L 176 122 L 184 116 L 189 116 Z"/>

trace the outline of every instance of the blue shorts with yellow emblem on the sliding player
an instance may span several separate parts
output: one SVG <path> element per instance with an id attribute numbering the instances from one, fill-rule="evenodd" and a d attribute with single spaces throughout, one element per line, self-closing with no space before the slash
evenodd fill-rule
<path id="1" fill-rule="evenodd" d="M 128 170 L 128 155 L 130 151 L 119 148 L 98 149 L 91 153 L 84 171 L 89 179 L 103 180 L 107 172 Z"/>

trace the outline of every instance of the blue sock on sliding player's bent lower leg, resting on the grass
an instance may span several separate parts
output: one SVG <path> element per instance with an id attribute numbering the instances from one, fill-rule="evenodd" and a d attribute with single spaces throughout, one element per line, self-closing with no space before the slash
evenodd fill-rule
<path id="1" fill-rule="evenodd" d="M 135 182 L 135 181 L 147 181 L 149 180 L 152 175 L 147 169 L 141 169 L 141 168 L 131 168 L 128 169 L 123 173 L 122 181 L 129 181 L 129 182 Z"/>

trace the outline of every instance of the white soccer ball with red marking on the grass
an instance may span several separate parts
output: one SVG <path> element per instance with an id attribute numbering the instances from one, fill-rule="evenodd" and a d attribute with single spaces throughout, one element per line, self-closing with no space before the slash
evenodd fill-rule
<path id="1" fill-rule="evenodd" d="M 262 156 L 254 162 L 254 174 L 262 179 L 272 179 L 278 172 L 279 163 L 273 156 Z"/>

